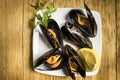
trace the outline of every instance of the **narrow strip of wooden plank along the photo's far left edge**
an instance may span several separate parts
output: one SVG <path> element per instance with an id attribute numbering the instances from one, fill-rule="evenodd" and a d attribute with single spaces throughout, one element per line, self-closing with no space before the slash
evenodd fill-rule
<path id="1" fill-rule="evenodd" d="M 6 0 L 0 0 L 0 80 L 6 79 L 7 73 L 7 52 L 6 52 L 6 35 L 7 20 L 6 18 Z"/>

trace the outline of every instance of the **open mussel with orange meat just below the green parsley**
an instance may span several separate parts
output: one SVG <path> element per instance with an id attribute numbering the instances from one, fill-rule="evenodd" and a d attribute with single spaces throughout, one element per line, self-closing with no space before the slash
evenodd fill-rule
<path id="1" fill-rule="evenodd" d="M 55 20 L 49 19 L 48 27 L 46 28 L 43 25 L 40 25 L 40 28 L 53 48 L 63 46 L 61 31 Z"/>

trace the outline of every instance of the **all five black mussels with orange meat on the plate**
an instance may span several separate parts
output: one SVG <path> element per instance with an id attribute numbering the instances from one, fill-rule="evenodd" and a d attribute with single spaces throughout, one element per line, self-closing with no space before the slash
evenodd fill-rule
<path id="1" fill-rule="evenodd" d="M 84 63 L 77 52 L 70 46 L 64 45 L 63 38 L 71 41 L 79 48 L 92 48 L 89 37 L 95 37 L 97 33 L 96 21 L 86 4 L 86 14 L 83 10 L 72 9 L 68 13 L 70 21 L 60 29 L 55 20 L 49 19 L 48 27 L 40 25 L 40 28 L 52 47 L 52 50 L 38 58 L 34 67 L 45 64 L 49 70 L 65 69 L 75 80 L 75 73 L 86 76 Z"/>

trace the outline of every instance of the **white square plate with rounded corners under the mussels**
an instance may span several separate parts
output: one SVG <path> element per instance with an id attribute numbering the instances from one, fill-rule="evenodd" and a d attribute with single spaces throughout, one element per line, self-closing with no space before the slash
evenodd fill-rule
<path id="1" fill-rule="evenodd" d="M 52 18 L 56 20 L 58 25 L 62 27 L 64 23 L 66 22 L 66 15 L 68 12 L 73 8 L 58 8 L 57 11 L 52 14 Z M 83 9 L 84 10 L 84 9 Z M 85 10 L 84 10 L 85 11 Z M 41 10 L 37 12 L 38 14 L 41 14 Z M 93 44 L 93 49 L 97 51 L 97 53 L 100 55 L 101 59 L 101 51 L 102 51 L 102 29 L 101 29 L 101 19 L 100 15 L 96 11 L 92 11 L 93 16 L 97 23 L 97 35 L 95 38 L 90 38 Z M 35 20 L 37 21 L 37 19 Z M 66 43 L 66 42 L 65 42 Z M 73 45 L 71 45 L 74 47 Z M 75 47 L 74 47 L 75 48 Z M 50 50 L 50 46 L 48 45 L 46 39 L 42 36 L 42 32 L 37 26 L 33 31 L 33 65 L 35 61 L 45 52 Z M 44 66 L 43 66 L 44 67 Z M 35 71 L 43 74 L 48 75 L 54 75 L 54 76 L 66 76 L 65 73 L 62 70 L 54 70 L 54 71 L 41 71 L 34 68 Z M 99 69 L 98 69 L 99 70 Z M 87 76 L 96 75 L 98 73 L 98 70 L 95 70 L 93 72 L 86 72 Z M 78 74 L 76 74 L 77 76 Z"/>

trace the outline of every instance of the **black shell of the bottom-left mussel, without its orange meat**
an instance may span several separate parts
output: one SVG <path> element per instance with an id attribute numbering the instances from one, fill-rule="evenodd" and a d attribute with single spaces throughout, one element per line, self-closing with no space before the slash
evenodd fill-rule
<path id="1" fill-rule="evenodd" d="M 56 70 L 56 69 L 61 69 L 61 68 L 63 68 L 64 65 L 67 63 L 67 60 L 66 60 L 66 59 L 67 59 L 67 55 L 64 54 L 62 51 L 58 50 L 58 48 L 54 48 L 54 49 L 52 49 L 52 50 L 44 53 L 42 56 L 40 56 L 40 57 L 37 59 L 37 61 L 35 62 L 34 68 L 40 66 L 40 65 L 43 64 L 43 63 L 46 64 L 46 60 L 47 60 L 48 58 L 50 58 L 51 56 L 55 56 L 55 55 L 60 55 L 59 60 L 61 59 L 61 62 L 60 62 L 60 64 L 59 64 L 57 67 L 55 67 L 55 68 L 51 68 L 51 67 L 50 67 L 51 69 L 48 69 L 48 70 Z M 47 64 L 47 65 L 48 65 L 48 64 Z M 47 70 L 47 69 L 45 69 L 45 70 Z"/>

